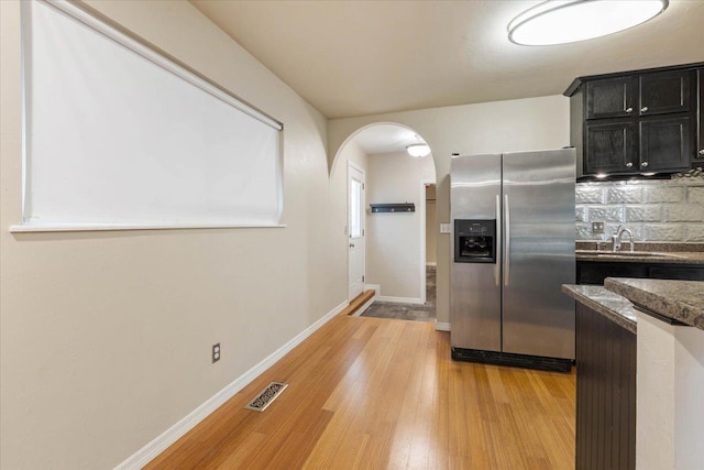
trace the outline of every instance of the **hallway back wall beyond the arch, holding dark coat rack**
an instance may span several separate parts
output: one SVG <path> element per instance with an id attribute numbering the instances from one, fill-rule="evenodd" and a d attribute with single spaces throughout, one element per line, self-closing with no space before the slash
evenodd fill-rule
<path id="1" fill-rule="evenodd" d="M 421 212 L 425 206 L 424 181 L 435 181 L 430 155 L 414 159 L 406 152 L 372 155 L 367 160 L 366 200 L 370 204 L 414 203 L 410 214 L 371 214 L 366 216 L 366 281 L 378 284 L 382 297 L 420 302 Z"/>

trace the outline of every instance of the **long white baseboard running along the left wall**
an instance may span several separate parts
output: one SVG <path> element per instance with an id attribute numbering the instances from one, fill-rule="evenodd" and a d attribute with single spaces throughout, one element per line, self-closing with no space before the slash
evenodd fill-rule
<path id="1" fill-rule="evenodd" d="M 125 461 L 116 467 L 116 470 L 132 470 L 132 469 L 141 469 L 146 466 L 148 462 L 154 460 L 156 456 L 166 450 L 172 444 L 176 442 L 180 439 L 186 433 L 193 429 L 198 423 L 204 420 L 208 415 L 222 406 L 228 400 L 233 397 L 239 391 L 249 385 L 254 379 L 260 376 L 264 371 L 274 365 L 276 361 L 282 359 L 288 352 L 290 352 L 295 347 L 300 345 L 304 340 L 306 340 L 310 335 L 312 335 L 316 330 L 322 327 L 326 323 L 332 319 L 336 315 L 340 314 L 342 310 L 350 305 L 349 302 L 343 302 L 342 304 L 334 307 L 328 314 L 326 314 L 322 318 L 320 318 L 315 324 L 310 325 L 308 328 L 302 330 L 300 334 L 296 335 L 286 345 L 278 348 L 271 356 L 264 359 L 258 364 L 254 365 L 252 369 L 246 371 L 244 374 L 237 378 L 229 385 L 222 389 L 220 392 L 216 393 L 213 396 L 208 398 L 206 403 L 198 406 L 196 409 L 186 415 L 178 423 L 166 429 L 162 433 L 161 436 L 152 440 L 146 446 L 142 447 L 134 455 L 128 458 Z"/>

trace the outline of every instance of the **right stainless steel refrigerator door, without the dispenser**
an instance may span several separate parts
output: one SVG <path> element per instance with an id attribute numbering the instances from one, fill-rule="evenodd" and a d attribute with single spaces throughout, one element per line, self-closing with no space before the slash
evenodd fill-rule
<path id="1" fill-rule="evenodd" d="M 505 154 L 504 352 L 574 358 L 574 149 Z M 454 325 L 453 325 L 454 327 Z"/>

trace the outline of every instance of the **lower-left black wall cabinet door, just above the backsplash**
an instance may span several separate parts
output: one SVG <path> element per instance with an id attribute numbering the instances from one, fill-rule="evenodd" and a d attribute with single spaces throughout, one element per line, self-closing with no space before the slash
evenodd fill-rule
<path id="1" fill-rule="evenodd" d="M 585 127 L 585 174 L 638 172 L 638 127 L 634 121 L 592 121 Z"/>

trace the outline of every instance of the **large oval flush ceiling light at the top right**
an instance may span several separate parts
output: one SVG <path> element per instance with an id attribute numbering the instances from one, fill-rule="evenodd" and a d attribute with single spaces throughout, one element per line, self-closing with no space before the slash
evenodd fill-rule
<path id="1" fill-rule="evenodd" d="M 668 4 L 668 0 L 548 0 L 514 18 L 508 39 L 521 45 L 591 40 L 645 23 Z"/>

